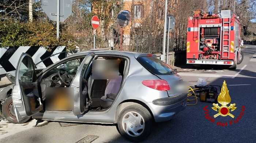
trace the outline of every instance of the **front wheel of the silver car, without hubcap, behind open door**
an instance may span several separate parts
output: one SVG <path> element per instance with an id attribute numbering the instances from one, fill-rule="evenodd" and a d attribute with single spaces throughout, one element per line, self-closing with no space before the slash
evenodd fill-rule
<path id="1" fill-rule="evenodd" d="M 15 123 L 15 124 L 25 123 L 30 119 L 30 118 L 27 118 L 22 122 L 18 123 L 15 116 L 14 107 L 12 104 L 12 96 L 9 96 L 8 98 L 5 99 L 2 110 L 3 110 L 2 112 L 3 112 L 4 118 L 11 123 Z"/>

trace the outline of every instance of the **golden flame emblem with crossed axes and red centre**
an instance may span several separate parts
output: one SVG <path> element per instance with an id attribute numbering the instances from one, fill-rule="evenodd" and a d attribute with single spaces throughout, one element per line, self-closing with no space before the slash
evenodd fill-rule
<path id="1" fill-rule="evenodd" d="M 214 118 L 218 117 L 219 115 L 223 117 L 227 115 L 229 115 L 232 118 L 235 117 L 230 112 L 236 110 L 237 108 L 235 107 L 236 103 L 233 103 L 227 106 L 231 102 L 231 98 L 230 98 L 229 90 L 227 89 L 227 84 L 225 80 L 222 84 L 221 93 L 219 94 L 217 101 L 219 104 L 221 104 L 221 106 L 219 106 L 218 103 L 217 104 L 213 103 L 212 104 L 213 107 L 211 107 L 214 111 L 218 112 L 217 114 L 214 115 Z"/>

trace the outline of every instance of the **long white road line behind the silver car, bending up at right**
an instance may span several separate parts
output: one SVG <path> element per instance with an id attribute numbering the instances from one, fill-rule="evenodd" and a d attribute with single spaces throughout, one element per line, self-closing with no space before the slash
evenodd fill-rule
<path id="1" fill-rule="evenodd" d="M 180 76 L 198 76 L 198 77 L 210 77 L 210 78 L 236 78 L 240 74 L 242 70 L 247 66 L 244 65 L 235 75 L 217 75 L 217 74 L 194 74 L 194 73 L 184 73 L 184 72 L 179 72 L 178 75 Z"/>

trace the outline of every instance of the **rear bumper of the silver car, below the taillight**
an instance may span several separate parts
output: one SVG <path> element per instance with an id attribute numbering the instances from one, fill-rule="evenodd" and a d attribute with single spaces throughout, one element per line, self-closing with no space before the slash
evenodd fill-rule
<path id="1" fill-rule="evenodd" d="M 156 99 L 148 102 L 147 106 L 151 109 L 155 122 L 165 122 L 187 107 L 186 99 L 187 94 L 180 94 L 170 98 Z"/>

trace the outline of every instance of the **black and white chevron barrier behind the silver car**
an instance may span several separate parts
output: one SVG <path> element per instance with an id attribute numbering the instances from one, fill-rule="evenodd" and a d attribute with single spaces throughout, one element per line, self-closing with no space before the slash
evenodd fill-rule
<path id="1" fill-rule="evenodd" d="M 50 52 L 46 51 L 44 47 L 39 46 L 2 47 L 0 48 L 0 77 L 6 75 L 9 71 L 16 70 L 20 55 L 24 52 L 28 53 L 32 57 L 37 68 L 46 68 L 49 65 L 65 58 L 65 51 L 65 46 L 54 47 Z M 51 57 L 44 60 L 49 56 Z"/>

